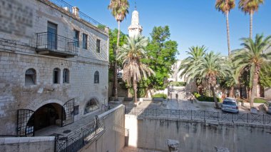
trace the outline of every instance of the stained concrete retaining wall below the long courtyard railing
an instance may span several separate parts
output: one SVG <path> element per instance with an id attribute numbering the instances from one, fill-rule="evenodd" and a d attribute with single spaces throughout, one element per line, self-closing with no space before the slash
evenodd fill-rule
<path id="1" fill-rule="evenodd" d="M 126 115 L 129 146 L 168 151 L 167 139 L 180 142 L 179 151 L 270 151 L 271 127 L 203 121 L 175 121 Z"/>

